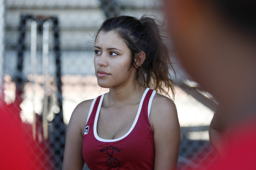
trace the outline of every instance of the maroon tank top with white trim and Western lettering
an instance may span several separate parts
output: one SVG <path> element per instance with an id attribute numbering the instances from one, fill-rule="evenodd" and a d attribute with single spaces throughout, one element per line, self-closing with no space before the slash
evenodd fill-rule
<path id="1" fill-rule="evenodd" d="M 149 88 L 145 90 L 132 127 L 118 139 L 98 136 L 96 128 L 104 94 L 94 99 L 83 139 L 83 156 L 90 170 L 154 169 L 154 133 L 149 114 L 155 94 L 156 91 Z"/>

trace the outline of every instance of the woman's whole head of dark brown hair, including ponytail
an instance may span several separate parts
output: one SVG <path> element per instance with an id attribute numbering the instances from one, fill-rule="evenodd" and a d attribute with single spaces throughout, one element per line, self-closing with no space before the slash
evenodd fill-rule
<path id="1" fill-rule="evenodd" d="M 174 97 L 170 71 L 176 74 L 170 61 L 168 48 L 163 42 L 164 37 L 160 35 L 160 25 L 156 21 L 147 16 L 142 16 L 140 20 L 131 16 L 118 16 L 105 20 L 98 33 L 99 31 L 116 31 L 131 51 L 131 66 L 137 68 L 136 79 L 139 83 L 161 94 L 168 94 L 171 90 Z M 140 52 L 144 52 L 146 58 L 141 66 L 137 67 L 135 60 L 140 60 L 138 57 Z"/>

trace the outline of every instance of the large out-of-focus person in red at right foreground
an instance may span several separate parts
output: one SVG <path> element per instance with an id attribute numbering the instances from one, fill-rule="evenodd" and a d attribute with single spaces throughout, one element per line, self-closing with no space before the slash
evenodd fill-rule
<path id="1" fill-rule="evenodd" d="M 174 51 L 220 102 L 210 142 L 220 169 L 256 167 L 256 1 L 164 0 Z"/>

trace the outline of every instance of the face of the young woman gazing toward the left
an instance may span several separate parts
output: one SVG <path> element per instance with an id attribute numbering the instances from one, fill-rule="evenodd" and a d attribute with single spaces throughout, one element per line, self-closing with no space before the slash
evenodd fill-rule
<path id="1" fill-rule="evenodd" d="M 100 31 L 94 50 L 94 68 L 100 87 L 122 87 L 134 80 L 136 69 L 131 67 L 130 49 L 116 31 Z"/>

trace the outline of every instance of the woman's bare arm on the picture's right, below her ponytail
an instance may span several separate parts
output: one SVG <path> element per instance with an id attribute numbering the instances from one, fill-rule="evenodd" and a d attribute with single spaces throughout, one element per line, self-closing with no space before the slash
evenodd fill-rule
<path id="1" fill-rule="evenodd" d="M 154 98 L 150 122 L 154 130 L 154 169 L 176 169 L 180 148 L 180 124 L 174 102 L 164 96 Z"/>

